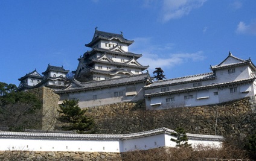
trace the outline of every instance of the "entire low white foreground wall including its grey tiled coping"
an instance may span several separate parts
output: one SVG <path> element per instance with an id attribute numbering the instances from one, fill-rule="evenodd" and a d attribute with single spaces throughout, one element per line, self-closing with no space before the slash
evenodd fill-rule
<path id="1" fill-rule="evenodd" d="M 0 131 L 0 151 L 88 151 L 121 153 L 149 150 L 159 147 L 175 147 L 168 128 L 132 134 L 63 134 L 63 133 L 19 133 Z M 192 147 L 205 145 L 221 148 L 223 136 L 187 134 Z M 174 138 L 175 139 L 175 138 Z"/>

